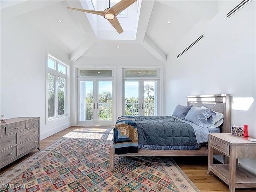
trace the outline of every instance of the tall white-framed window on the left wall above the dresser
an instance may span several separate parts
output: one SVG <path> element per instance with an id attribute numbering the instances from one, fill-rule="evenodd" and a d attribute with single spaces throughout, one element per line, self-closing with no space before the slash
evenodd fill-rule
<path id="1" fill-rule="evenodd" d="M 48 54 L 48 120 L 66 115 L 67 65 Z"/>

